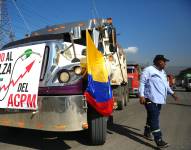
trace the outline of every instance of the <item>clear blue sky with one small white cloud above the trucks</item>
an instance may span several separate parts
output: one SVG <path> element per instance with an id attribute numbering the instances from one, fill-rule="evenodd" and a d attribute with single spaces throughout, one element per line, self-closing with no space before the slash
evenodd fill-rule
<path id="1" fill-rule="evenodd" d="M 152 64 L 156 54 L 169 66 L 191 66 L 191 0 L 7 0 L 17 38 L 47 25 L 112 17 L 128 60 Z"/>

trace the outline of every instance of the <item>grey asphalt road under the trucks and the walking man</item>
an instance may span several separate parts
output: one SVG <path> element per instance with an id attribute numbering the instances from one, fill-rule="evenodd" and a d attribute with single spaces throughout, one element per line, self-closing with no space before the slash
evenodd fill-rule
<path id="1" fill-rule="evenodd" d="M 161 111 L 161 129 L 170 144 L 167 150 L 191 150 L 191 92 L 177 90 L 179 102 L 168 97 Z M 86 132 L 50 133 L 0 127 L 0 150 L 153 150 L 153 141 L 143 138 L 146 113 L 138 99 L 131 98 L 123 111 L 113 113 L 108 126 L 107 141 L 91 146 Z"/>

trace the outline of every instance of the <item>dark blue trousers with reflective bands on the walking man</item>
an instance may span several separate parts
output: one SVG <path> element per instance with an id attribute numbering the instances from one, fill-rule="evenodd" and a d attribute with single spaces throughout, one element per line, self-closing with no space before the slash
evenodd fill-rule
<path id="1" fill-rule="evenodd" d="M 147 122 L 145 132 L 152 132 L 155 141 L 162 138 L 162 133 L 159 127 L 161 107 L 161 104 L 156 104 L 146 99 L 145 108 L 147 110 Z"/>

